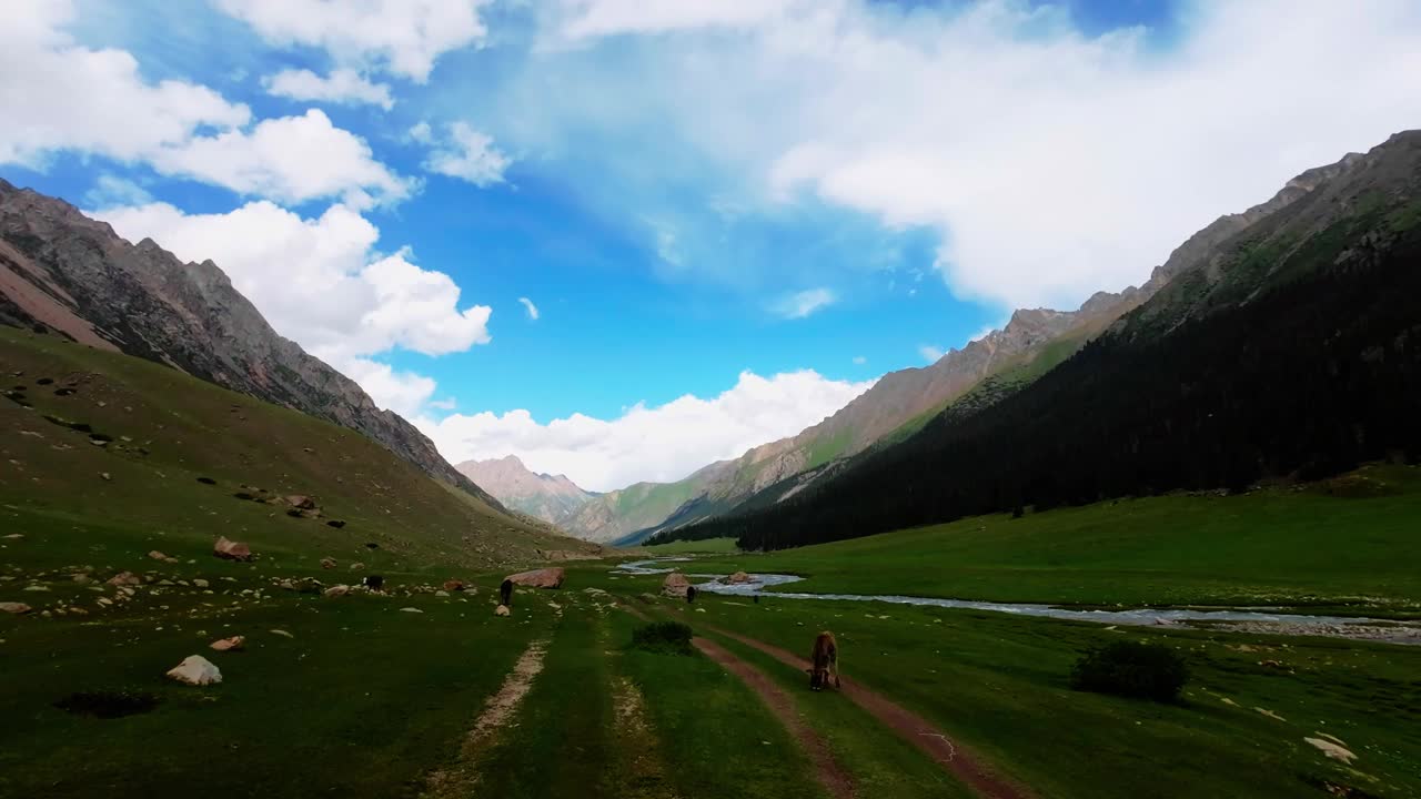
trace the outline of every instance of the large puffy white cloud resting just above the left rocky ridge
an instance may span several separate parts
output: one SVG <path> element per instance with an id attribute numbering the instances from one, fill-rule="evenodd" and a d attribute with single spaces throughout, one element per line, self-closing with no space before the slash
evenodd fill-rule
<path id="1" fill-rule="evenodd" d="M 459 286 L 411 263 L 408 250 L 377 254 L 379 230 L 344 205 L 313 219 L 267 200 L 229 213 L 185 213 L 166 203 L 88 213 L 183 260 L 212 259 L 277 333 L 402 414 L 428 401 L 435 382 L 371 355 L 394 348 L 441 355 L 490 340 L 487 306 L 460 310 Z"/>

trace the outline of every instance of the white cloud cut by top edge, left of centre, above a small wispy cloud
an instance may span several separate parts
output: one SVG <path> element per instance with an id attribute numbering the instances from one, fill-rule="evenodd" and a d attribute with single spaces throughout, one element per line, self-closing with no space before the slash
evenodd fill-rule
<path id="1" fill-rule="evenodd" d="M 325 48 L 341 64 L 425 82 L 435 60 L 482 45 L 489 0 L 219 0 L 226 13 L 277 45 Z"/>

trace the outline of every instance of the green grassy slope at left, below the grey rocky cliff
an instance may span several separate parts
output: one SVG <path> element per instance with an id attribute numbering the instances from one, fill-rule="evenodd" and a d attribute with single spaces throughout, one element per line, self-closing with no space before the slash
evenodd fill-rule
<path id="1" fill-rule="evenodd" d="M 4 527 L 63 537 L 48 552 L 65 563 L 129 546 L 207 562 L 217 536 L 263 557 L 401 570 L 593 549 L 442 485 L 360 432 L 141 358 L 0 327 L 0 374 Z M 320 515 L 288 516 L 276 498 L 291 495 Z"/>

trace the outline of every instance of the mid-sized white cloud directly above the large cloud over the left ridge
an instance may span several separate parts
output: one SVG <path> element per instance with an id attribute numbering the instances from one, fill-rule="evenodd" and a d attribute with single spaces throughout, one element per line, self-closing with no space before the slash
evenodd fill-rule
<path id="1" fill-rule="evenodd" d="M 227 131 L 165 149 L 153 166 L 283 202 L 338 196 L 347 205 L 394 202 L 412 186 L 375 161 L 364 139 L 337 128 L 317 108 L 301 117 L 263 119 L 252 131 Z"/>

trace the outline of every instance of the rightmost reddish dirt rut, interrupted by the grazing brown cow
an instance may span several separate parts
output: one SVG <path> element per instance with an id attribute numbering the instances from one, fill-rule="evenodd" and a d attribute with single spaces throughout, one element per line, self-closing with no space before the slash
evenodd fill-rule
<path id="1" fill-rule="evenodd" d="M 709 627 L 709 630 L 719 636 L 725 636 L 726 638 L 740 641 L 747 647 L 760 650 L 780 663 L 794 667 L 797 671 L 809 668 L 809 661 L 794 657 L 779 647 L 773 647 L 763 641 L 756 641 L 755 638 L 747 638 L 728 630 L 720 630 L 718 627 Z M 928 756 L 966 783 L 979 796 L 988 796 L 990 799 L 1026 799 L 1030 796 L 1030 793 L 1022 788 L 1017 788 L 993 773 L 982 763 L 982 761 L 972 756 L 962 746 L 953 744 L 952 739 L 944 735 L 941 729 L 928 724 L 928 721 L 918 714 L 904 708 L 871 688 L 865 688 L 848 680 L 847 677 L 843 678 L 843 694 L 847 699 L 872 714 L 874 718 L 884 722 L 890 729 L 911 742 L 914 746 L 922 749 Z"/>

